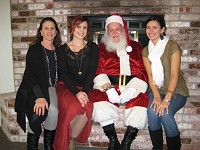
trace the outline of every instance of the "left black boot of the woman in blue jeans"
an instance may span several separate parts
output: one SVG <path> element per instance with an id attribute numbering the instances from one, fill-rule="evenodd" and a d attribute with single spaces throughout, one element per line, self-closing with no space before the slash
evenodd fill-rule
<path id="1" fill-rule="evenodd" d="M 149 130 L 151 142 L 153 145 L 152 150 L 163 150 L 163 131 L 162 128 L 159 130 Z"/>

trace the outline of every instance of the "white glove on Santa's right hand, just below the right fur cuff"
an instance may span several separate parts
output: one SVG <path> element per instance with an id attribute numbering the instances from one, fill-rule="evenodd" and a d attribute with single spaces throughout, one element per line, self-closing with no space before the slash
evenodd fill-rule
<path id="1" fill-rule="evenodd" d="M 137 97 L 139 93 L 140 92 L 135 88 L 127 88 L 120 94 L 120 96 L 119 96 L 120 102 L 122 104 L 126 103 L 126 102 L 130 101 L 131 99 Z"/>

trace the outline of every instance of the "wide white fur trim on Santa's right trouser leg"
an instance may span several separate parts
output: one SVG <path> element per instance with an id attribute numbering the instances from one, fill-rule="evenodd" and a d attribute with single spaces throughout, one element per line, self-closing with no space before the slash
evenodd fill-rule
<path id="1" fill-rule="evenodd" d="M 147 125 L 147 108 L 135 106 L 125 109 L 124 125 L 137 129 L 144 129 Z"/>

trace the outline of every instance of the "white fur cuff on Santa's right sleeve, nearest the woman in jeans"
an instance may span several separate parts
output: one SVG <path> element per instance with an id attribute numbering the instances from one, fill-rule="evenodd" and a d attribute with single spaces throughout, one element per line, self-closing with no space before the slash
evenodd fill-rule
<path id="1" fill-rule="evenodd" d="M 142 93 L 145 93 L 147 88 L 148 88 L 148 85 L 145 81 L 139 79 L 139 78 L 133 78 L 131 79 L 128 84 L 126 85 L 126 88 L 135 88 L 136 90 L 142 92 Z"/>

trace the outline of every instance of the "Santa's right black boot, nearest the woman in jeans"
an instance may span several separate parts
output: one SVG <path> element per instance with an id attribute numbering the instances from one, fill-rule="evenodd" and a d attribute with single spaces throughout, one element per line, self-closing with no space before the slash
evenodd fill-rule
<path id="1" fill-rule="evenodd" d="M 136 138 L 137 133 L 138 133 L 137 128 L 133 128 L 131 126 L 127 127 L 126 132 L 124 134 L 124 139 L 122 140 L 121 143 L 121 150 L 130 150 L 131 143 Z"/>

